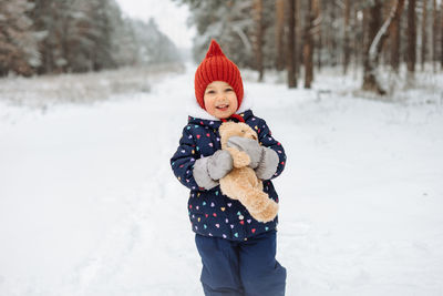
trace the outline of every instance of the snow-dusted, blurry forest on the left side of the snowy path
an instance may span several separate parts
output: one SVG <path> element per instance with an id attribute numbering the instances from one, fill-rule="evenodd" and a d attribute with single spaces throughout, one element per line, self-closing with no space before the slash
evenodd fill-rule
<path id="1" fill-rule="evenodd" d="M 176 62 L 176 47 L 114 0 L 0 0 L 0 76 Z"/>

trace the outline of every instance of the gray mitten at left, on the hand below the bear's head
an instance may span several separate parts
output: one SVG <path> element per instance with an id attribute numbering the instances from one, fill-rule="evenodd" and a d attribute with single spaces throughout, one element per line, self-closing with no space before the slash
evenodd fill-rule
<path id="1" fill-rule="evenodd" d="M 218 180 L 233 170 L 233 157 L 225 150 L 216 151 L 212 156 L 195 161 L 193 175 L 199 187 L 212 190 Z"/>

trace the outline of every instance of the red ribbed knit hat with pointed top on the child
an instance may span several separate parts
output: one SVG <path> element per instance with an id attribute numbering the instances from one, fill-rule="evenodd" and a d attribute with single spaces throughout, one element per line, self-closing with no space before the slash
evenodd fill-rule
<path id="1" fill-rule="evenodd" d="M 213 81 L 225 81 L 234 89 L 237 95 L 238 110 L 243 101 L 243 81 L 240 71 L 235 63 L 226 58 L 220 49 L 220 45 L 218 45 L 214 39 L 210 42 L 206 58 L 198 65 L 197 71 L 195 71 L 195 98 L 203 109 L 205 109 L 205 102 L 203 98 L 205 95 L 206 88 Z"/>

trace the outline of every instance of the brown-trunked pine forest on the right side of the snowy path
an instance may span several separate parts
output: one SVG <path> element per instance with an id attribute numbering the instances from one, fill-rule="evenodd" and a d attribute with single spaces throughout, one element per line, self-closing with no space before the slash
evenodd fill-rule
<path id="1" fill-rule="evenodd" d="M 175 0 L 189 6 L 197 28 L 194 57 L 212 38 L 240 67 L 287 71 L 287 84 L 309 89 L 324 67 L 363 71 L 362 89 L 379 94 L 379 68 L 408 83 L 415 71 L 443 67 L 443 2 L 436 0 Z"/>

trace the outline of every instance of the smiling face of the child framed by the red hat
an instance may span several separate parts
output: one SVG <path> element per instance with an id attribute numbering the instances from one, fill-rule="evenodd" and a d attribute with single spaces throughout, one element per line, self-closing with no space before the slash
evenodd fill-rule
<path id="1" fill-rule="evenodd" d="M 217 119 L 229 118 L 238 108 L 237 94 L 225 81 L 209 83 L 203 99 L 206 111 Z"/>

